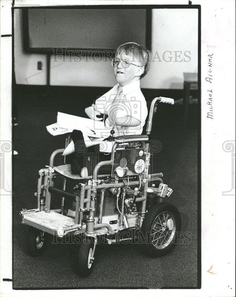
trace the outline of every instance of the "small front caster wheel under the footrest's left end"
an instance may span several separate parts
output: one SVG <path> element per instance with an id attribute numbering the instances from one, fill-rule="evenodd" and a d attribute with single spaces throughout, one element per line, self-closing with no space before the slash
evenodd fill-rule
<path id="1" fill-rule="evenodd" d="M 26 248 L 32 257 L 37 257 L 45 250 L 47 233 L 30 227 L 26 237 Z"/>

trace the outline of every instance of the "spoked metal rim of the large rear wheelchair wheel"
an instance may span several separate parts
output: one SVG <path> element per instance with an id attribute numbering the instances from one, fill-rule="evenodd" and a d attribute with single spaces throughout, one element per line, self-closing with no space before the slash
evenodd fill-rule
<path id="1" fill-rule="evenodd" d="M 151 242 L 157 249 L 164 249 L 173 240 L 176 221 L 170 211 L 163 211 L 154 219 L 151 227 Z"/>

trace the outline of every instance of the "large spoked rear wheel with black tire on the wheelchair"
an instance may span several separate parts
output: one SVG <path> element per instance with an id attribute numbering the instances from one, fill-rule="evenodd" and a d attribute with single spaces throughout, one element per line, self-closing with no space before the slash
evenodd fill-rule
<path id="1" fill-rule="evenodd" d="M 180 213 L 173 204 L 161 202 L 152 206 L 141 226 L 143 251 L 152 257 L 169 254 L 180 230 Z"/>

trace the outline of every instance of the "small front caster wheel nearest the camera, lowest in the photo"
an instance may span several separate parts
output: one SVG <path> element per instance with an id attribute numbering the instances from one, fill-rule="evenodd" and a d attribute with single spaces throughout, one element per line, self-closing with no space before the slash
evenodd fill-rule
<path id="1" fill-rule="evenodd" d="M 93 257 L 94 243 L 91 239 L 82 241 L 79 254 L 78 254 L 78 274 L 82 277 L 88 277 L 93 270 L 94 257 Z"/>

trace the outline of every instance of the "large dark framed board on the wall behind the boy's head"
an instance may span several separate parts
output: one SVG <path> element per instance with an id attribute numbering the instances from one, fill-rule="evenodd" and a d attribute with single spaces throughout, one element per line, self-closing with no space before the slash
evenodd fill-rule
<path id="1" fill-rule="evenodd" d="M 130 41 L 150 48 L 150 23 L 146 9 L 29 8 L 24 12 L 25 50 L 115 50 Z"/>

